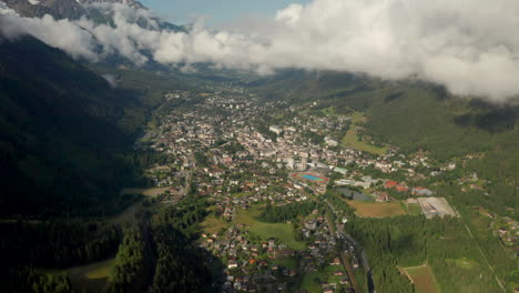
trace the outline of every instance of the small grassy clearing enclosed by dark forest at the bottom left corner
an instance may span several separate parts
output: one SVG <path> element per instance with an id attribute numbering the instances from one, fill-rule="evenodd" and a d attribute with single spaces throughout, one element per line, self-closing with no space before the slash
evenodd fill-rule
<path id="1" fill-rule="evenodd" d="M 115 259 L 65 270 L 77 292 L 101 292 L 115 265 Z"/>

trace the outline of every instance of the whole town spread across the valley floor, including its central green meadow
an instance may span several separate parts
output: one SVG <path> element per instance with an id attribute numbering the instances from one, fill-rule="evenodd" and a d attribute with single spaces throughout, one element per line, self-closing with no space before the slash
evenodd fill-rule
<path id="1" fill-rule="evenodd" d="M 362 151 L 343 142 L 348 131 L 362 135 L 350 115 L 312 115 L 307 109 L 316 103 L 261 103 L 233 85 L 165 97 L 199 102 L 190 111 L 160 112 L 160 123 L 135 148 L 170 158 L 146 172 L 165 203 L 182 200 L 190 189 L 210 198 L 211 215 L 196 243 L 222 261 L 222 292 L 359 292 L 355 271 L 369 271 L 368 257 L 344 230 L 347 213 L 325 196 L 330 189 L 359 215 L 363 204 L 394 204 L 401 209 L 395 215 L 457 216 L 445 198 L 436 198 L 434 179 L 470 156 L 440 164 L 390 145 L 379 154 Z M 275 123 L 260 119 L 277 109 L 284 109 L 283 118 Z M 461 192 L 482 184 L 476 174 L 459 181 Z M 308 213 L 297 221 L 260 221 L 265 209 L 291 204 L 309 206 Z M 496 233 L 511 242 L 505 226 L 517 223 L 496 224 Z"/>

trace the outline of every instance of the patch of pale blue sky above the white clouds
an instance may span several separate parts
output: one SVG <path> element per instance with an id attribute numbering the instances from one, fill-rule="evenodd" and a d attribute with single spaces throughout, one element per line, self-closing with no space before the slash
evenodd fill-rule
<path id="1" fill-rule="evenodd" d="M 309 0 L 141 0 L 164 19 L 179 24 L 190 22 L 190 16 L 207 16 L 207 24 L 218 24 L 246 16 L 274 17 L 276 10 L 291 3 Z"/>

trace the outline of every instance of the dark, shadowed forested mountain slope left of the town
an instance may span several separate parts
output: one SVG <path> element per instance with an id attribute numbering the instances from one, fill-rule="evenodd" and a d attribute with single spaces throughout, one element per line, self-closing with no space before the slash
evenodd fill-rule
<path id="1" fill-rule="evenodd" d="M 0 213 L 110 210 L 132 180 L 122 153 L 136 130 L 120 122 L 131 107 L 131 92 L 64 52 L 31 37 L 2 40 Z"/>

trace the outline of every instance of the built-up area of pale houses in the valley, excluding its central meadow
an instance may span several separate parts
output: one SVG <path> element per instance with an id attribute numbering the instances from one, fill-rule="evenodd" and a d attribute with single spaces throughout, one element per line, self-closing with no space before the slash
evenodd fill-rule
<path id="1" fill-rule="evenodd" d="M 291 118 L 262 125 L 256 118 L 282 102 L 261 102 L 254 94 L 233 85 L 221 84 L 211 94 L 199 94 L 196 99 L 185 91 L 171 92 L 165 98 L 170 102 L 192 99 L 193 104 L 187 110 L 180 103 L 160 114 L 161 123 L 147 131 L 136 148 L 152 149 L 171 158 L 171 163 L 146 172 L 155 185 L 185 185 L 184 193 L 192 185 L 200 195 L 210 198 L 215 216 L 224 221 L 225 229 L 204 233 L 199 242 L 225 265 L 223 292 L 285 292 L 301 282 L 303 275 L 325 266 L 334 270 L 320 281 L 322 292 L 337 292 L 339 287 L 353 292 L 346 266 L 359 266 L 356 244 L 342 230 L 347 219 L 332 205 L 335 223 L 318 213 L 298 220 L 296 232 L 306 243 L 305 250 L 289 249 L 274 235 L 255 238 L 250 226 L 236 221 L 238 211 L 266 202 L 284 205 L 307 201 L 309 193 L 326 191 L 328 178 L 325 176 L 332 175 L 338 186 L 372 189 L 379 202 L 391 200 L 390 190 L 431 196 L 434 192 L 429 189 L 410 188 L 383 176 L 398 173 L 426 179 L 457 168 L 456 163 L 440 165 L 425 154 L 405 156 L 395 148 L 389 148 L 384 155 L 338 148 L 352 124 L 346 115 L 314 117 L 302 107 L 289 107 L 286 111 Z M 373 175 L 370 170 L 384 175 Z M 467 182 L 464 181 L 464 188 Z M 423 209 L 427 204 L 431 206 L 427 214 L 451 212 L 442 201 L 424 200 Z M 501 236 L 510 238 L 509 232 L 499 231 Z M 513 233 L 511 239 L 517 241 L 517 232 Z M 335 247 L 339 242 L 344 251 L 337 255 Z M 296 259 L 296 265 L 281 264 L 279 260 L 284 259 Z M 345 260 L 349 261 L 345 263 Z"/>

